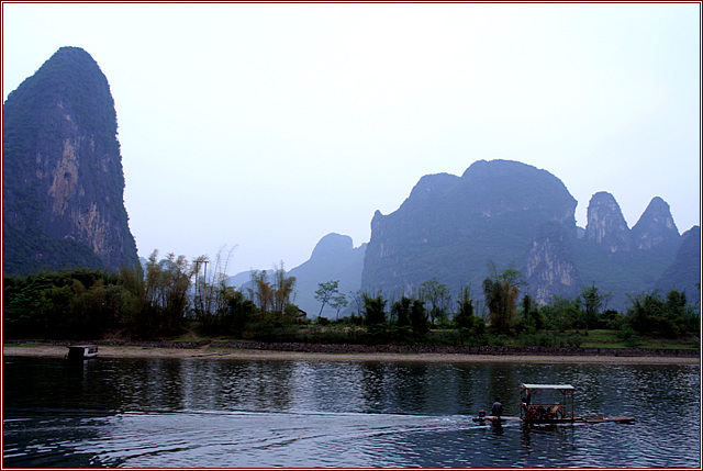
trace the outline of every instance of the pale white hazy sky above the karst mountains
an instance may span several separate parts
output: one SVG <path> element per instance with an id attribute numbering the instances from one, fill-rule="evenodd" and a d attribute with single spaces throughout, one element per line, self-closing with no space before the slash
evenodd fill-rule
<path id="1" fill-rule="evenodd" d="M 140 255 L 227 272 L 370 238 L 427 173 L 520 160 L 585 225 L 611 192 L 700 224 L 700 4 L 8 4 L 3 100 L 62 46 L 115 101 Z"/>

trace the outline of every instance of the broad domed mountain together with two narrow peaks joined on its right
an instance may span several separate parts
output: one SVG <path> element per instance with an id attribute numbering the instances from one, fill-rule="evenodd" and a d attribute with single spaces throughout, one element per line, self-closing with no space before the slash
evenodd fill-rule
<path id="1" fill-rule="evenodd" d="M 373 215 L 362 289 L 415 294 L 436 278 L 455 293 L 466 284 L 480 293 L 493 261 L 499 271 L 520 270 L 528 282 L 523 293 L 539 303 L 593 283 L 613 294 L 609 307 L 623 309 L 627 293 L 652 290 L 681 245 L 669 205 L 654 198 L 629 229 L 615 198 L 598 192 L 581 235 L 574 209 L 558 178 L 515 161 L 425 176 L 395 212 Z M 698 278 L 683 271 L 692 285 Z"/>

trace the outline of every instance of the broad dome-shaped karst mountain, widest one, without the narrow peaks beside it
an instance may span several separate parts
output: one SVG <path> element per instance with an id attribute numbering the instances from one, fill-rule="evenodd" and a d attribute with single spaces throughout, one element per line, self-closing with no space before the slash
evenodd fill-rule
<path id="1" fill-rule="evenodd" d="M 540 299 L 571 293 L 580 288 L 569 249 L 576 204 L 558 178 L 517 161 L 423 177 L 398 211 L 373 216 L 362 288 L 413 293 L 437 278 L 477 292 L 492 261 L 521 270 Z"/>

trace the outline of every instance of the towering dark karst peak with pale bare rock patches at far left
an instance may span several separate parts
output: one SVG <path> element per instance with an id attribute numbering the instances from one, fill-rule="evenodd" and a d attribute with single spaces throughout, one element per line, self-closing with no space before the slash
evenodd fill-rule
<path id="1" fill-rule="evenodd" d="M 110 86 L 78 47 L 59 48 L 3 109 L 3 271 L 137 262 Z"/>

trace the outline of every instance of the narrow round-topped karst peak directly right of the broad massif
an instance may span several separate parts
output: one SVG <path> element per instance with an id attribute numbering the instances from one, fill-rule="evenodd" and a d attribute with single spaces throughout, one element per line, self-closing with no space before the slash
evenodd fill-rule
<path id="1" fill-rule="evenodd" d="M 591 197 L 588 208 L 585 239 L 610 254 L 629 251 L 632 240 L 623 212 L 611 193 L 600 191 Z"/>

